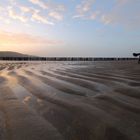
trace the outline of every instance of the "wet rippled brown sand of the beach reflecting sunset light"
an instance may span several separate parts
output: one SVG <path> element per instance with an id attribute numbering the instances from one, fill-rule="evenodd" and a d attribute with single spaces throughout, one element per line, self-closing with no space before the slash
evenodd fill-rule
<path id="1" fill-rule="evenodd" d="M 1 62 L 0 140 L 140 140 L 140 65 Z"/>

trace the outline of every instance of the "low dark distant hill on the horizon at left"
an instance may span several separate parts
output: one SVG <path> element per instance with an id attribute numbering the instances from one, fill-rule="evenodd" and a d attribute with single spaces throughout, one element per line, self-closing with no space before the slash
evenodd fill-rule
<path id="1" fill-rule="evenodd" d="M 22 54 L 18 52 L 12 52 L 12 51 L 0 51 L 0 57 L 34 57 L 27 54 Z"/>

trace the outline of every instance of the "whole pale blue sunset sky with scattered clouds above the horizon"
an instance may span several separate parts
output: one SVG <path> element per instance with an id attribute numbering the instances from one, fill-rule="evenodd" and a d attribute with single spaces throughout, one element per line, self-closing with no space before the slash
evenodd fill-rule
<path id="1" fill-rule="evenodd" d="M 131 57 L 140 52 L 140 0 L 0 0 L 0 51 Z"/>

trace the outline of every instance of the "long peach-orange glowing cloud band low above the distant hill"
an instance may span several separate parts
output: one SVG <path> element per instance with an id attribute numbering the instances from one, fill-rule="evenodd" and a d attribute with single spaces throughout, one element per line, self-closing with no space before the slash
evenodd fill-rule
<path id="1" fill-rule="evenodd" d="M 47 37 L 0 31 L 0 46 L 51 46 L 60 44 L 63 44 L 63 42 L 51 40 Z"/>

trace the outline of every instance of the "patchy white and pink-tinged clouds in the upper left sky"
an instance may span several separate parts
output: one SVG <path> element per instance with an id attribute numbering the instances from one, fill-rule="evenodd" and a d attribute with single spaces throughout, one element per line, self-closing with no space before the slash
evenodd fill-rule
<path id="1" fill-rule="evenodd" d="M 31 21 L 46 25 L 54 25 L 64 18 L 66 7 L 63 4 L 43 2 L 41 0 L 27 0 L 32 5 L 23 5 L 20 1 L 9 0 L 8 5 L 0 6 L 0 20 L 9 24 L 18 20 L 25 25 L 30 25 Z M 38 5 L 41 8 L 36 8 Z"/>

